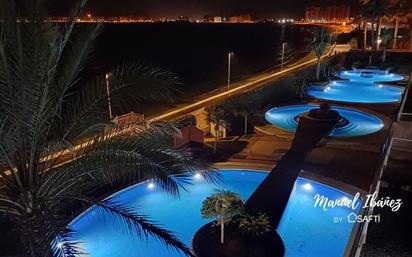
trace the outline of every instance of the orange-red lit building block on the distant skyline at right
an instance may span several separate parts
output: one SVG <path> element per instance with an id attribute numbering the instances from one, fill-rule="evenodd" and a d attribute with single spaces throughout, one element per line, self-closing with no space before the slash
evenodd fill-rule
<path id="1" fill-rule="evenodd" d="M 340 6 L 312 6 L 306 8 L 306 21 L 345 21 L 350 17 L 350 7 Z"/>

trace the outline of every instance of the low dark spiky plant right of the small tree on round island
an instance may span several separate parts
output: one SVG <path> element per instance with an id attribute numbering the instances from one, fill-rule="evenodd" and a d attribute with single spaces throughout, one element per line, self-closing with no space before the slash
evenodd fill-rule
<path id="1" fill-rule="evenodd" d="M 242 215 L 239 219 L 239 229 L 252 239 L 263 236 L 272 230 L 269 217 L 264 213 Z"/>

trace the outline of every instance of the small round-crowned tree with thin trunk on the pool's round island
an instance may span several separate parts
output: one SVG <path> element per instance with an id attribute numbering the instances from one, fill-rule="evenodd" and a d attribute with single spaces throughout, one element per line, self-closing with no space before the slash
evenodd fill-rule
<path id="1" fill-rule="evenodd" d="M 232 221 L 233 217 L 243 211 L 242 198 L 234 192 L 218 190 L 206 198 L 202 205 L 203 218 L 213 218 L 220 225 L 220 243 L 224 243 L 225 224 Z"/>

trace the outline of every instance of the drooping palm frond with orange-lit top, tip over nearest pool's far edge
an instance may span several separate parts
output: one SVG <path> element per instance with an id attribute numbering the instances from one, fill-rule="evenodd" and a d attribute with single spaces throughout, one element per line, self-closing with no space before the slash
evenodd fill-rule
<path id="1" fill-rule="evenodd" d="M 194 161 L 189 152 L 172 147 L 176 132 L 166 123 L 144 128 L 136 125 L 128 133 L 107 130 L 78 149 L 66 168 L 73 174 L 98 171 L 110 183 L 124 178 L 129 178 L 129 183 L 153 178 L 160 188 L 174 195 L 190 184 L 191 175 L 171 175 L 199 173 L 205 180 L 216 182 L 218 176 L 209 172 L 207 165 Z"/>

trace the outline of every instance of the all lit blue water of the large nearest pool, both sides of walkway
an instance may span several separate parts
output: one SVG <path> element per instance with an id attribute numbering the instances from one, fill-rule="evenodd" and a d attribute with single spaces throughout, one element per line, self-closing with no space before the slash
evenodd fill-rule
<path id="1" fill-rule="evenodd" d="M 176 199 L 156 186 L 141 183 L 112 196 L 117 201 L 138 207 L 151 220 L 174 231 L 187 245 L 194 233 L 210 220 L 200 214 L 202 201 L 216 189 L 232 190 L 247 199 L 267 176 L 263 172 L 246 170 L 221 171 L 222 183 L 208 184 L 193 177 L 193 185 L 182 191 Z M 330 199 L 352 196 L 323 184 L 299 178 L 288 202 L 288 207 L 279 226 L 279 233 L 286 246 L 287 257 L 341 257 L 345 251 L 353 223 L 334 223 L 335 216 L 346 217 L 359 208 L 336 207 L 324 211 L 314 208 L 313 197 L 322 194 Z M 75 219 L 71 228 L 77 232 L 79 246 L 91 257 L 177 257 L 157 240 L 140 240 L 116 229 L 110 217 L 98 219 L 97 209 L 89 209 Z"/>

